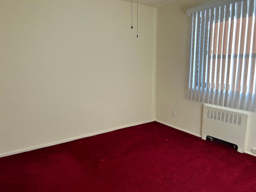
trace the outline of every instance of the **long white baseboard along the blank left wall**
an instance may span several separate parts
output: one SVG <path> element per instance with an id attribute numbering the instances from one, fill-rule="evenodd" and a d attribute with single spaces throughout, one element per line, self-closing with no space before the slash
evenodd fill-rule
<path id="1" fill-rule="evenodd" d="M 2 153 L 2 154 L 0 154 L 0 158 L 5 157 L 5 156 L 18 154 L 18 153 L 28 152 L 28 151 L 32 151 L 32 150 L 36 150 L 36 149 L 40 149 L 40 148 L 44 148 L 44 147 L 49 147 L 49 146 L 53 146 L 53 145 L 57 145 L 57 144 L 62 144 L 62 143 L 66 143 L 66 142 L 69 142 L 69 141 L 74 141 L 74 140 L 77 140 L 77 139 L 82 139 L 82 138 L 86 138 L 86 137 L 90 137 L 90 136 L 94 136 L 94 135 L 98 135 L 98 134 L 102 134 L 102 133 L 107 133 L 107 132 L 111 132 L 111 131 L 118 130 L 118 129 L 123 129 L 123 128 L 132 127 L 132 126 L 136 126 L 136 125 L 140 125 L 140 124 L 150 123 L 150 122 L 154 122 L 154 121 L 155 120 L 152 119 L 152 120 L 148 120 L 148 121 L 137 122 L 137 123 L 133 123 L 133 124 L 125 125 L 125 126 L 120 126 L 120 127 L 108 129 L 108 130 L 103 130 L 103 131 L 94 132 L 94 133 L 90 133 L 90 134 L 85 134 L 85 135 L 81 135 L 81 136 L 77 136 L 77 137 L 73 137 L 73 138 L 68 138 L 68 139 L 64 139 L 64 140 L 60 140 L 60 141 L 56 141 L 56 142 L 52 142 L 52 143 L 47 143 L 47 144 L 43 144 L 43 145 L 33 146 L 33 147 L 30 147 L 30 148 L 25 148 L 25 149 L 21 149 L 21 150 Z"/>

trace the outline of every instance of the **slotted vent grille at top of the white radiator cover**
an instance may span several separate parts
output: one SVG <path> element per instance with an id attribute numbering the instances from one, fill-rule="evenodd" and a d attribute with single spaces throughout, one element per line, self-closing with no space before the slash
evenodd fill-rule
<path id="1" fill-rule="evenodd" d="M 234 125 L 241 126 L 241 121 L 242 121 L 242 116 L 232 114 L 229 112 L 220 112 L 216 110 L 207 110 L 207 118 L 226 122 L 226 123 L 231 123 Z"/>

